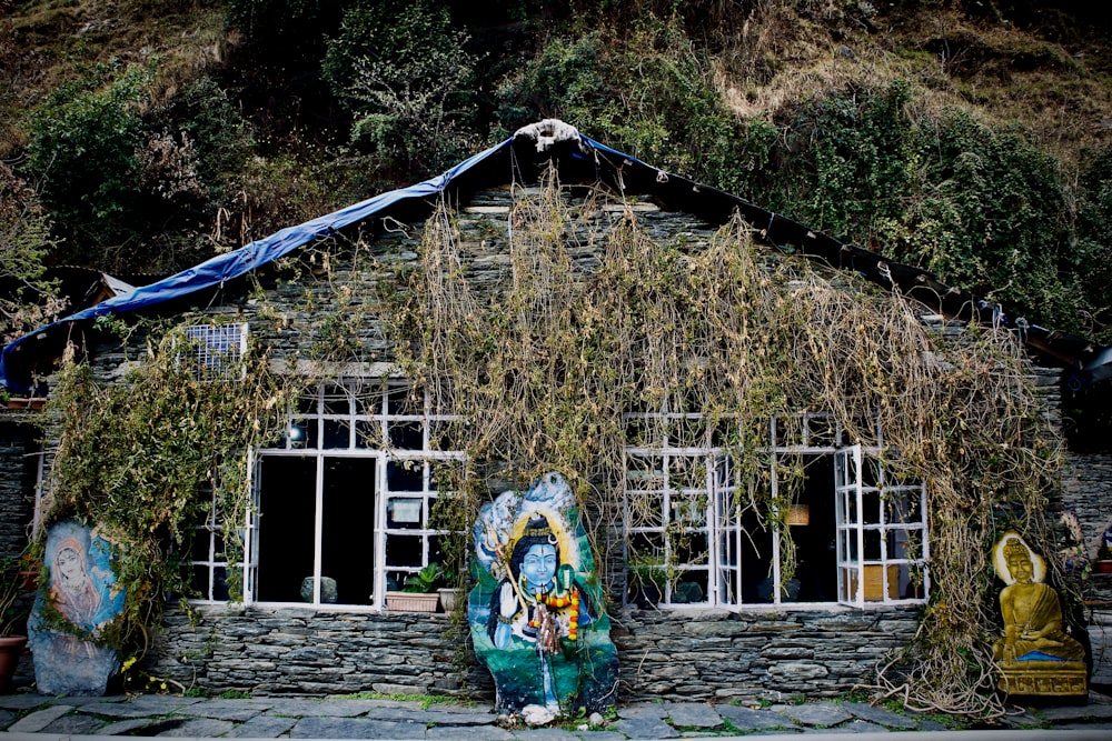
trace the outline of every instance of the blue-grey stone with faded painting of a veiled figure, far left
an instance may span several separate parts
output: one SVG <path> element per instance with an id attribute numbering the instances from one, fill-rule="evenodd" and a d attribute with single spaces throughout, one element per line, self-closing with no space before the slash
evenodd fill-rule
<path id="1" fill-rule="evenodd" d="M 126 598 L 113 548 L 96 528 L 63 521 L 47 530 L 43 558 L 49 580 L 28 620 L 36 685 L 42 694 L 103 694 L 120 659 L 97 638 Z"/>

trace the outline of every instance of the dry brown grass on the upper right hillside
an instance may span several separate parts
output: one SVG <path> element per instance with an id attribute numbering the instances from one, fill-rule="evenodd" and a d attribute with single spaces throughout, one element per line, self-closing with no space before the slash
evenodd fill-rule
<path id="1" fill-rule="evenodd" d="M 761 3 L 714 58 L 715 80 L 738 116 L 773 119 L 795 101 L 854 83 L 916 84 L 926 112 L 960 107 L 1017 126 L 1065 163 L 1112 143 L 1108 44 L 1075 29 L 1053 40 L 1013 24 L 971 20 L 924 3 L 867 19 Z"/>

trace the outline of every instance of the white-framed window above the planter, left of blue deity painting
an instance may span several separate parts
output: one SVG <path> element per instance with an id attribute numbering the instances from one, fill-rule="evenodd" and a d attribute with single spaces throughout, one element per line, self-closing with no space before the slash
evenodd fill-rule
<path id="1" fill-rule="evenodd" d="M 244 601 L 384 608 L 385 592 L 435 560 L 447 535 L 430 514 L 453 493 L 437 489 L 437 472 L 463 463 L 451 434 L 463 423 L 433 414 L 427 392 L 404 380 L 314 384 L 279 443 L 251 454 Z"/>

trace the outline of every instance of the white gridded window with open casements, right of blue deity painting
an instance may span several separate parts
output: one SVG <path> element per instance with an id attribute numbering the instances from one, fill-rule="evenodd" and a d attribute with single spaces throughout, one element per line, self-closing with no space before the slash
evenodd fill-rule
<path id="1" fill-rule="evenodd" d="M 643 589 L 652 581 L 646 574 L 654 568 L 663 583 L 658 590 L 649 584 L 659 593 L 648 601 L 664 607 L 814 609 L 926 601 L 925 488 L 887 480 L 880 448 L 847 444 L 832 415 L 810 412 L 791 424 L 775 419 L 768 424 L 768 447 L 762 451 L 770 459 L 767 482 L 758 487 L 768 502 L 777 502 L 782 465 L 804 465 L 806 491 L 800 503 L 808 514 L 801 517 L 812 518 L 805 522 L 743 502 L 746 484 L 736 480 L 728 448 L 712 444 L 714 432 L 702 415 L 629 413 L 624 420 L 631 441 L 624 453 L 626 603 L 643 603 Z M 702 483 L 685 473 L 696 465 L 705 472 Z M 811 465 L 815 470 L 808 474 Z M 702 504 L 693 509 L 693 502 Z M 796 548 L 808 548 L 794 583 L 783 582 L 785 543 L 771 520 L 788 522 L 783 527 L 793 527 Z M 794 530 L 808 525 L 815 531 Z M 826 541 L 828 550 L 822 547 Z M 830 573 L 816 577 L 815 570 L 824 568 Z"/>

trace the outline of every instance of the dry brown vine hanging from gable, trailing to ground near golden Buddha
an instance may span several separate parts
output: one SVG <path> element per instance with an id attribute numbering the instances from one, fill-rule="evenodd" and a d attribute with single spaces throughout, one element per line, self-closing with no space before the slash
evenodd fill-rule
<path id="1" fill-rule="evenodd" d="M 558 470 L 610 554 L 602 525 L 623 521 L 623 412 L 698 414 L 649 424 L 714 428 L 735 462 L 739 504 L 785 538 L 790 573 L 788 531 L 767 501 L 768 422 L 827 412 L 851 438 L 883 447 L 891 474 L 924 482 L 929 495 L 931 603 L 875 689 L 913 709 L 1003 712 L 989 552 L 1012 527 L 1053 552 L 1044 512 L 1059 464 L 1056 431 L 1015 338 L 931 330 L 895 292 L 759 250 L 741 220 L 707 242 L 659 243 L 633 211 L 610 223 L 594 199 L 570 202 L 553 174 L 539 193 L 515 197 L 500 282 L 479 280 L 441 208 L 426 224 L 419 269 L 388 300 L 403 368 L 434 390 L 437 412 L 467 420 L 469 470 L 454 487 L 522 485 Z M 594 228 L 574 227 L 584 222 Z M 597 266 L 573 260 L 585 248 Z M 792 467 L 782 473 L 780 503 L 793 487 Z"/>

